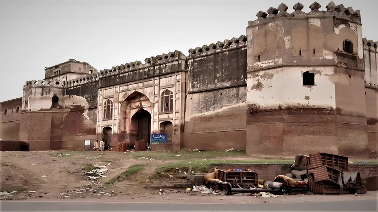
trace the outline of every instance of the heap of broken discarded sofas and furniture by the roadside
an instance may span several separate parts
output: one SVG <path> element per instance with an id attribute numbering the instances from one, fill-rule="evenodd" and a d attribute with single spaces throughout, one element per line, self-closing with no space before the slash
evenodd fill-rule
<path id="1" fill-rule="evenodd" d="M 327 153 L 297 155 L 291 173 L 274 181 L 259 180 L 259 173 L 241 169 L 214 169 L 206 174 L 206 187 L 222 192 L 273 194 L 356 194 L 366 193 L 366 181 L 359 172 L 348 171 L 348 157 Z"/>

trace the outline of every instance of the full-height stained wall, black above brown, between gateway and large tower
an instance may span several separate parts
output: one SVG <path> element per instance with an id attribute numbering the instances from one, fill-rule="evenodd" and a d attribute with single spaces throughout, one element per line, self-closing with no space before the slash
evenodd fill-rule
<path id="1" fill-rule="evenodd" d="M 189 59 L 188 69 L 181 148 L 245 149 L 245 45 Z"/>

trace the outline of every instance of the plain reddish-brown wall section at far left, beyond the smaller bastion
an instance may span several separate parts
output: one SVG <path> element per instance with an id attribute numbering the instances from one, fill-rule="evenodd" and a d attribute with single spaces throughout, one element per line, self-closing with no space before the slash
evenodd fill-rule
<path id="1" fill-rule="evenodd" d="M 17 108 L 19 108 L 18 111 Z M 9 141 L 19 140 L 22 118 L 21 109 L 22 98 L 0 102 L 0 139 Z"/>

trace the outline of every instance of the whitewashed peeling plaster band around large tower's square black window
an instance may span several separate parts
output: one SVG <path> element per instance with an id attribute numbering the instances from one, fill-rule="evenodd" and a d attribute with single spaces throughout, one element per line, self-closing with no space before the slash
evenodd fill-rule
<path id="1" fill-rule="evenodd" d="M 315 74 L 315 86 L 302 86 L 302 74 Z M 248 104 L 261 109 L 336 108 L 333 67 L 284 67 L 249 72 Z"/>

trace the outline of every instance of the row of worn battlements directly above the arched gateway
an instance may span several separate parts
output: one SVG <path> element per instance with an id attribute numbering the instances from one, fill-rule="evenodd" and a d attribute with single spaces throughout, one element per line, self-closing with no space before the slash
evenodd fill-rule
<path id="1" fill-rule="evenodd" d="M 112 69 L 104 69 L 100 71 L 99 78 L 129 72 L 140 68 L 146 68 L 148 66 L 161 65 L 180 59 L 185 60 L 186 56 L 180 51 L 176 50 L 174 52 L 169 52 L 168 54 L 156 55 L 156 57 L 147 57 L 146 59 L 144 59 L 145 63 L 142 63 L 141 61 L 134 61 L 121 64 L 119 66 L 113 66 Z"/>

